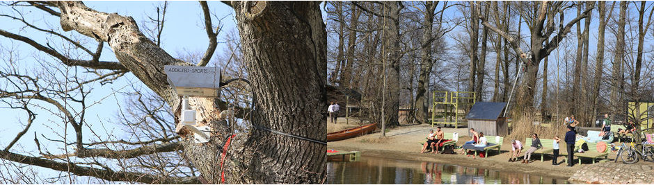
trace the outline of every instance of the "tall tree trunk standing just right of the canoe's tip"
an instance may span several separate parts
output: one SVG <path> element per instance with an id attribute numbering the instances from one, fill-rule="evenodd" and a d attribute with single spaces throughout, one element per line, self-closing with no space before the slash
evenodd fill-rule
<path id="1" fill-rule="evenodd" d="M 384 1 L 383 5 L 384 17 L 383 21 L 383 58 L 385 60 L 385 67 L 387 75 L 387 82 L 385 85 L 385 107 L 384 113 L 385 121 L 382 127 L 395 127 L 399 125 L 398 111 L 399 111 L 399 91 L 400 91 L 400 76 L 399 76 L 399 63 L 401 58 L 401 51 L 399 46 L 399 12 L 404 8 L 401 1 Z M 384 134 L 385 130 L 382 130 Z"/>

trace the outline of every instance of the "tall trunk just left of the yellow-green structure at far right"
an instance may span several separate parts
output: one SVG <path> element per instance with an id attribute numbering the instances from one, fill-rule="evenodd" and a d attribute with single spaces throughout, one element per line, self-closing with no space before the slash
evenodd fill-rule
<path id="1" fill-rule="evenodd" d="M 622 64 L 625 55 L 625 24 L 627 16 L 627 1 L 620 1 L 620 16 L 618 21 L 618 33 L 616 35 L 616 55 L 613 60 L 613 73 L 611 80 L 611 110 L 615 115 L 622 107 L 621 88 L 623 87 Z"/>

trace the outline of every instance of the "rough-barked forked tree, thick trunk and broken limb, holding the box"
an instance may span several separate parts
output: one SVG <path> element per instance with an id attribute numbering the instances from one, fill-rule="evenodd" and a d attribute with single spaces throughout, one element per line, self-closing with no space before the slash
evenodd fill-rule
<path id="1" fill-rule="evenodd" d="M 259 98 L 255 125 L 324 141 L 326 130 L 326 32 L 318 2 L 232 2 L 244 59 Z M 147 39 L 134 19 L 97 12 L 80 1 L 60 1 L 61 26 L 109 43 L 116 58 L 180 115 L 180 98 L 166 82 L 163 65 L 177 60 Z M 220 182 L 221 148 L 229 126 L 217 118 L 215 98 L 191 98 L 198 123 L 217 131 L 197 145 L 186 136 L 184 153 L 208 183 Z M 297 116 L 293 116 L 297 115 Z M 250 127 L 252 128 L 252 127 Z M 326 175 L 326 146 L 259 129 L 239 134 L 225 162 L 228 183 L 319 183 Z"/>

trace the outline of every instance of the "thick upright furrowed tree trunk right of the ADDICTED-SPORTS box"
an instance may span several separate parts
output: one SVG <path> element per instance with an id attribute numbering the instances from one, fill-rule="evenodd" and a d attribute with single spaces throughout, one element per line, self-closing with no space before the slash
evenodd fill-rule
<path id="1" fill-rule="evenodd" d="M 253 124 L 324 141 L 327 36 L 319 2 L 244 1 L 233 7 L 248 75 L 261 99 Z M 270 132 L 253 132 L 245 144 L 250 148 L 244 152 L 253 156 L 234 167 L 248 184 L 317 183 L 326 175 L 325 145 Z M 239 173 L 232 175 L 232 183 L 242 182 Z"/>

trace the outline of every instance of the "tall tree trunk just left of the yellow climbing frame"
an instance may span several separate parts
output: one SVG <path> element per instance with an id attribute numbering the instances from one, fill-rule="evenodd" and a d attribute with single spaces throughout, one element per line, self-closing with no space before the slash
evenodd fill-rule
<path id="1" fill-rule="evenodd" d="M 426 1 L 424 7 L 424 20 L 422 21 L 422 49 L 420 53 L 420 75 L 418 76 L 417 90 L 415 93 L 415 105 L 417 106 L 417 120 L 420 123 L 427 123 L 426 118 L 429 116 L 429 94 L 427 94 L 427 89 L 429 89 L 429 76 L 431 76 L 431 69 L 433 68 L 433 58 L 431 53 L 432 43 L 433 43 L 433 18 L 434 11 L 438 2 L 434 3 L 433 1 Z"/>

